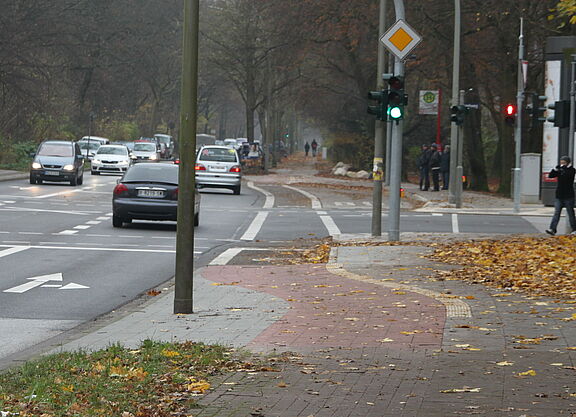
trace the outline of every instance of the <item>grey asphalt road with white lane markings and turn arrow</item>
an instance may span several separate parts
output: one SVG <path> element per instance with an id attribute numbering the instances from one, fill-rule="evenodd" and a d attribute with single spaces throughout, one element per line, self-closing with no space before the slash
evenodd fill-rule
<path id="1" fill-rule="evenodd" d="M 172 278 L 175 224 L 113 228 L 117 178 L 85 175 L 79 187 L 0 183 L 0 358 L 115 310 Z M 368 232 L 370 203 L 340 200 L 330 192 L 282 185 L 245 184 L 240 196 L 203 191 L 196 265 L 250 242 L 265 246 Z M 543 227 L 542 219 L 516 216 L 405 212 L 401 218 L 403 232 L 536 233 Z"/>

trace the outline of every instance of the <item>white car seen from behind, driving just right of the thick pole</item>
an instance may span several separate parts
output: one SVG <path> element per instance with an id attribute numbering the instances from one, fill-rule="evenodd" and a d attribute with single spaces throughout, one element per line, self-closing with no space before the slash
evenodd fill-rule
<path id="1" fill-rule="evenodd" d="M 196 184 L 198 188 L 228 188 L 240 194 L 242 169 L 234 149 L 226 146 L 204 146 L 196 156 Z"/>

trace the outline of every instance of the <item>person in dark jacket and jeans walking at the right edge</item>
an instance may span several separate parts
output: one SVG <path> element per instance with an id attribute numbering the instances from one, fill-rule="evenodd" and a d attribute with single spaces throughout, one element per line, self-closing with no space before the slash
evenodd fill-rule
<path id="1" fill-rule="evenodd" d="M 574 176 L 576 175 L 576 170 L 571 165 L 571 162 L 570 157 L 561 157 L 560 164 L 548 174 L 548 178 L 558 179 L 556 200 L 554 201 L 554 216 L 550 222 L 550 228 L 546 229 L 546 233 L 552 236 L 556 234 L 562 207 L 565 207 L 566 213 L 568 213 L 572 233 L 576 231 L 576 219 L 574 218 Z"/>

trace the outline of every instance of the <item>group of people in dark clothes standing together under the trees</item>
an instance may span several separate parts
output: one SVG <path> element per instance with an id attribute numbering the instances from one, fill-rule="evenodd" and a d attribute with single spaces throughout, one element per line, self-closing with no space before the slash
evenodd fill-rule
<path id="1" fill-rule="evenodd" d="M 420 174 L 420 190 L 430 189 L 430 176 L 432 176 L 432 191 L 440 191 L 440 181 L 442 189 L 448 189 L 450 181 L 450 146 L 446 145 L 440 149 L 435 143 L 432 145 L 422 145 L 422 152 L 417 161 L 418 173 Z"/>

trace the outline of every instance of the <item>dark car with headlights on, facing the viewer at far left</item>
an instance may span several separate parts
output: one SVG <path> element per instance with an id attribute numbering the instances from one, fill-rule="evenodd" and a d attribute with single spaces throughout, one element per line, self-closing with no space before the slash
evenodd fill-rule
<path id="1" fill-rule="evenodd" d="M 40 144 L 30 167 L 30 184 L 42 184 L 44 181 L 82 184 L 84 156 L 77 143 L 45 140 Z"/>

